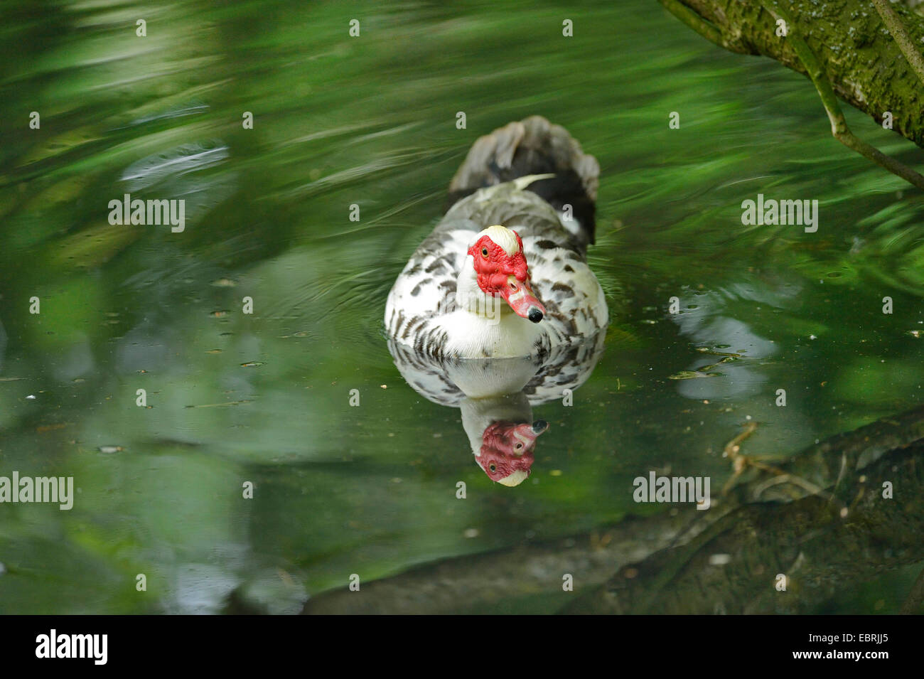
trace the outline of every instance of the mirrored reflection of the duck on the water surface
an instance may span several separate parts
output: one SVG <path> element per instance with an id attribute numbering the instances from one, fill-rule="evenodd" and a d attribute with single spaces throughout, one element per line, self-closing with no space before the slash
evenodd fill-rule
<path id="1" fill-rule="evenodd" d="M 529 478 L 536 442 L 549 429 L 533 407 L 562 399 L 587 381 L 603 350 L 604 333 L 544 356 L 433 358 L 388 343 L 395 366 L 418 394 L 459 408 L 475 462 L 489 479 L 517 486 Z"/>

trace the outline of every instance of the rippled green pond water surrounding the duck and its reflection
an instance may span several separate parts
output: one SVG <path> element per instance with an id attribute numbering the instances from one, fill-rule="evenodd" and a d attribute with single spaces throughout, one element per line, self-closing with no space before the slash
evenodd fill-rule
<path id="1" fill-rule="evenodd" d="M 924 401 L 920 194 L 831 139 L 807 79 L 656 3 L 29 2 L 0 30 L 0 475 L 78 489 L 0 504 L 0 612 L 218 612 L 235 590 L 298 612 L 350 574 L 666 511 L 632 500 L 652 469 L 719 489 L 748 420 L 773 459 Z M 511 489 L 381 322 L 470 144 L 533 114 L 600 161 L 613 322 L 574 405 L 534 409 L 551 428 Z M 131 178 L 158 154 L 195 160 Z M 110 225 L 127 192 L 183 198 L 185 230 Z M 758 193 L 819 200 L 817 233 L 743 225 Z M 670 379 L 703 347 L 740 358 Z M 895 612 L 915 573 L 823 610 Z"/>

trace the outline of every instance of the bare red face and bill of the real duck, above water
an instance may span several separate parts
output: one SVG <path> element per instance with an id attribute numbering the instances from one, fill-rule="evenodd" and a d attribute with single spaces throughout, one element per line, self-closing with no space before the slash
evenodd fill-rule
<path id="1" fill-rule="evenodd" d="M 512 255 L 508 255 L 491 236 L 481 236 L 468 249 L 468 254 L 475 260 L 475 273 L 478 275 L 481 292 L 504 297 L 517 316 L 538 323 L 545 314 L 545 307 L 533 294 L 529 285 L 529 268 L 526 255 L 523 254 L 523 240 L 516 231 L 513 234 L 517 236 L 519 249 Z"/>

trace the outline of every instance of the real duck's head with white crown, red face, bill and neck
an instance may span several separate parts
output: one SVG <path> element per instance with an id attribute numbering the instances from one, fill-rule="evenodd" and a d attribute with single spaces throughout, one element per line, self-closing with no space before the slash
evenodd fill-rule
<path id="1" fill-rule="evenodd" d="M 481 315 L 497 309 L 492 302 L 503 298 L 517 314 L 534 323 L 545 307 L 532 292 L 523 241 L 516 231 L 494 225 L 480 231 L 468 254 L 456 285 L 459 306 Z"/>

